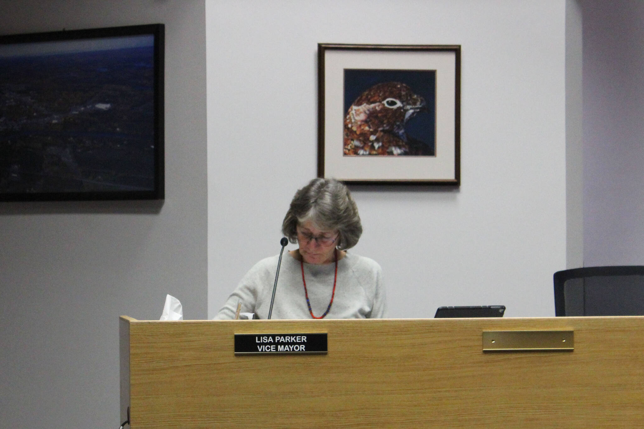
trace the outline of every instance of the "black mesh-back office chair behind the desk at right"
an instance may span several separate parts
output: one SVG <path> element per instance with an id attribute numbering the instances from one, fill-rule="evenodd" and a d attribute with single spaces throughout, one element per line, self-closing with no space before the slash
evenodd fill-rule
<path id="1" fill-rule="evenodd" d="M 644 315 L 644 266 L 557 271 L 554 273 L 554 315 Z"/>

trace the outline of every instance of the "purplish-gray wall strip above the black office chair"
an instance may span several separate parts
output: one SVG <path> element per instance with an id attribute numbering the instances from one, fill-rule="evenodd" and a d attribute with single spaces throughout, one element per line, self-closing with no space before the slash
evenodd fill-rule
<path id="1" fill-rule="evenodd" d="M 583 8 L 584 265 L 644 265 L 644 2 Z"/>

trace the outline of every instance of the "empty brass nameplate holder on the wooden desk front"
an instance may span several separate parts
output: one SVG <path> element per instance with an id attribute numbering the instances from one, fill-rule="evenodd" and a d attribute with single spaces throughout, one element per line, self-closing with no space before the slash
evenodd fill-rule
<path id="1" fill-rule="evenodd" d="M 483 331 L 483 351 L 573 351 L 573 334 L 574 331 Z"/>

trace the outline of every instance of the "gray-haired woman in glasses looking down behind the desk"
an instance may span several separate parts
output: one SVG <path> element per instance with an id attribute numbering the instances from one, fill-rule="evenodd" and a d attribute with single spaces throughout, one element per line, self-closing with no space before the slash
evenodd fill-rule
<path id="1" fill-rule="evenodd" d="M 360 216 L 345 185 L 313 179 L 298 190 L 282 223 L 297 250 L 284 255 L 272 319 L 381 318 L 384 288 L 380 266 L 346 250 L 362 234 Z M 269 315 L 278 255 L 260 260 L 242 278 L 215 319 L 242 312 Z"/>

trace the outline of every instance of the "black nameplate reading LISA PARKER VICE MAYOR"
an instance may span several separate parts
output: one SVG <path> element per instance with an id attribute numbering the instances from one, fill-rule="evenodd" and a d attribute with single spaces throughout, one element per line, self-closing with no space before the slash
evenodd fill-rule
<path id="1" fill-rule="evenodd" d="M 235 354 L 326 352 L 327 334 L 235 334 Z"/>

